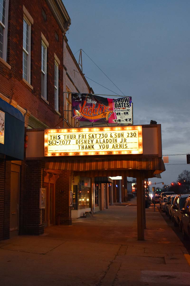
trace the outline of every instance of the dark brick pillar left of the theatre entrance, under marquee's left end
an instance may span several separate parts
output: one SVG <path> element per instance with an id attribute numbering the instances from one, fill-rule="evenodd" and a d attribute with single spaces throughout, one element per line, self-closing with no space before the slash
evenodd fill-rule
<path id="1" fill-rule="evenodd" d="M 26 234 L 40 235 L 44 233 L 44 209 L 40 209 L 40 188 L 44 182 L 43 161 L 27 161 L 25 185 L 25 217 Z"/>

